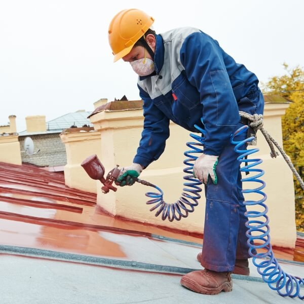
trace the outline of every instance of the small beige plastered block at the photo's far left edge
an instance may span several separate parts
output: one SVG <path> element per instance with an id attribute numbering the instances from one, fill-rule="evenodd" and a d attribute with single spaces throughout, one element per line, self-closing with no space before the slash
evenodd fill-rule
<path id="1" fill-rule="evenodd" d="M 18 134 L 0 134 L 0 162 L 21 165 L 20 143 Z"/>

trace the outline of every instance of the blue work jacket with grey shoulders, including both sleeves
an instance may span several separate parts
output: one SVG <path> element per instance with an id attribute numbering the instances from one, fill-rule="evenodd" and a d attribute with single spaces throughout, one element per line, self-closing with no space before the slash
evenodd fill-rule
<path id="1" fill-rule="evenodd" d="M 144 125 L 133 162 L 143 167 L 163 153 L 170 120 L 192 132 L 195 124 L 205 129 L 204 153 L 219 156 L 239 110 L 263 112 L 256 75 L 199 29 L 156 35 L 154 65 L 156 73 L 138 79 Z"/>

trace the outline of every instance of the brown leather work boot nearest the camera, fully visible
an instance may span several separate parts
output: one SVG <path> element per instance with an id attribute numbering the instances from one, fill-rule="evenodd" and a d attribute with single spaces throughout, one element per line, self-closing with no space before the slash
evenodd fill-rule
<path id="1" fill-rule="evenodd" d="M 180 284 L 203 294 L 218 294 L 232 291 L 230 272 L 216 272 L 208 269 L 193 271 L 181 277 Z"/>

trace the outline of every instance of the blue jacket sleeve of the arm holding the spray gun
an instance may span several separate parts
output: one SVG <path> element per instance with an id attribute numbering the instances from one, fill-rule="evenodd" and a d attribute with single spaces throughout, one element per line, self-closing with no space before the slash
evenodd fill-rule
<path id="1" fill-rule="evenodd" d="M 163 153 L 169 137 L 169 119 L 153 103 L 148 93 L 139 87 L 139 95 L 143 100 L 143 131 L 139 147 L 133 162 L 146 168 Z"/>

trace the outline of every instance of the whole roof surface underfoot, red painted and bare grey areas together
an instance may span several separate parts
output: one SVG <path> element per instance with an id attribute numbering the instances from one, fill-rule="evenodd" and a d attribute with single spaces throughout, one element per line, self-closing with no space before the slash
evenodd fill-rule
<path id="1" fill-rule="evenodd" d="M 304 277 L 303 237 L 275 248 L 282 268 Z M 179 285 L 201 269 L 202 236 L 112 217 L 96 195 L 59 173 L 0 163 L 0 293 L 5 303 L 286 303 L 250 265 L 234 290 L 205 296 Z M 303 290 L 304 291 L 304 290 Z"/>

